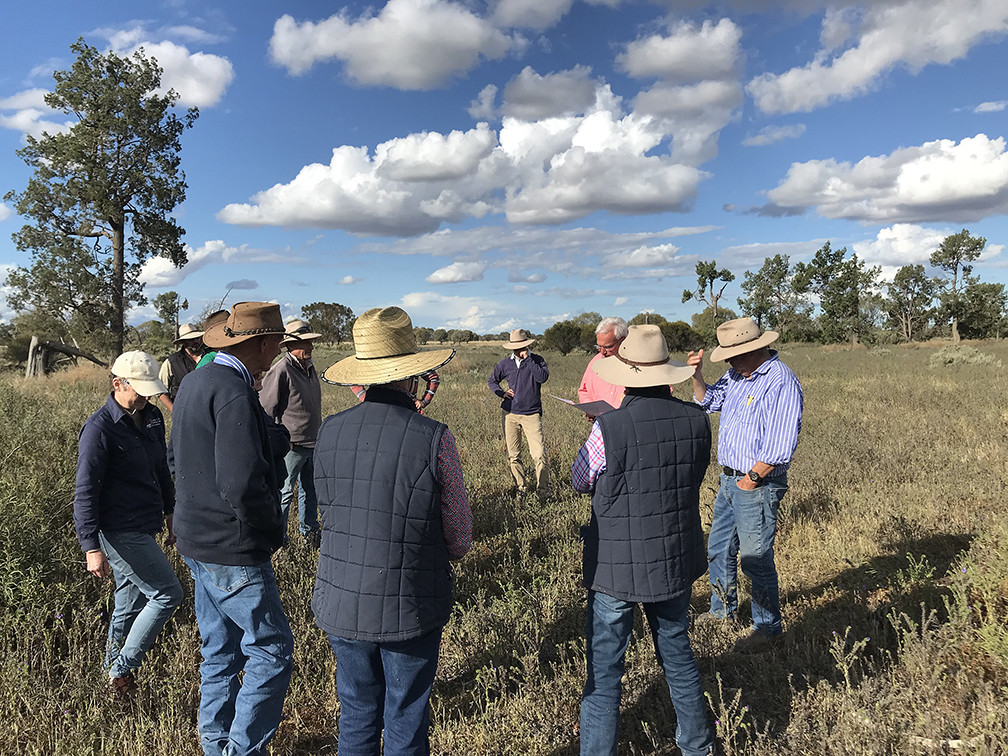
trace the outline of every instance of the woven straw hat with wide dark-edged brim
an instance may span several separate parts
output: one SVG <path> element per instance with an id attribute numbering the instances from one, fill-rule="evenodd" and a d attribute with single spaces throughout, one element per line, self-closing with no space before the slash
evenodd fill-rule
<path id="1" fill-rule="evenodd" d="M 340 386 L 374 386 L 435 370 L 455 357 L 454 349 L 421 352 L 413 324 L 399 307 L 374 307 L 354 323 L 354 352 L 322 374 Z"/>

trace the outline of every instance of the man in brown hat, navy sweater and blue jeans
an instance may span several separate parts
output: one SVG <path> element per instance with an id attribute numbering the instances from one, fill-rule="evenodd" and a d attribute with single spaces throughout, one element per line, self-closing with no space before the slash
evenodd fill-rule
<path id="1" fill-rule="evenodd" d="M 206 756 L 266 753 L 290 682 L 293 637 L 270 563 L 283 544 L 282 477 L 254 388 L 283 335 L 278 305 L 235 304 L 204 336 L 219 350 L 214 361 L 185 378 L 175 400 L 174 526 L 196 584 Z"/>

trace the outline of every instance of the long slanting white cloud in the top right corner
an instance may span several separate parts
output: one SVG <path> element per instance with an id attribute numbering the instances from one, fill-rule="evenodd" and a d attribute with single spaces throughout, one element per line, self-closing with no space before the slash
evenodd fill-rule
<path id="1" fill-rule="evenodd" d="M 984 39 L 1008 31 L 1004 0 L 907 0 L 868 5 L 853 46 L 833 54 L 845 40 L 847 17 L 838 23 L 827 13 L 824 47 L 802 68 L 762 74 L 748 86 L 764 113 L 807 112 L 836 100 L 862 95 L 896 67 L 916 73 L 932 64 L 948 65 Z"/>

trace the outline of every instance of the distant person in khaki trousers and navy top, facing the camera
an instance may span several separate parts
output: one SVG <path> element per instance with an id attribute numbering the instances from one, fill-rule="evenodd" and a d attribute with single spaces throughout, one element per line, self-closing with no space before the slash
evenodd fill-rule
<path id="1" fill-rule="evenodd" d="M 539 496 L 546 494 L 549 471 L 546 467 L 546 449 L 542 437 L 542 394 L 540 387 L 549 379 L 549 368 L 539 355 L 529 347 L 535 344 L 531 334 L 515 329 L 504 342 L 508 357 L 497 363 L 487 385 L 501 397 L 501 417 L 504 425 L 504 443 L 508 462 L 518 491 L 525 493 L 525 468 L 521 464 L 521 435 L 524 433 L 528 453 L 535 465 L 535 485 Z M 507 381 L 507 388 L 501 381 Z"/>

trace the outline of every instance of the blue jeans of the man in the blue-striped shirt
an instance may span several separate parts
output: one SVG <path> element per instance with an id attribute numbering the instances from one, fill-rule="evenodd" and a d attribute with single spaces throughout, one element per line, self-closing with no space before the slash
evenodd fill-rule
<path id="1" fill-rule="evenodd" d="M 739 608 L 739 563 L 752 581 L 753 627 L 779 635 L 780 590 L 773 562 L 777 510 L 787 493 L 787 475 L 767 478 L 753 491 L 743 491 L 739 478 L 721 476 L 707 542 L 711 578 L 711 614 L 734 617 Z"/>

